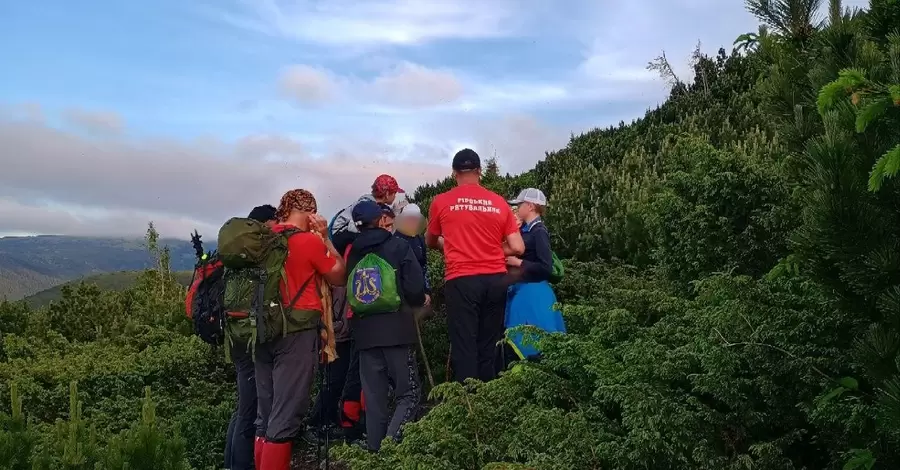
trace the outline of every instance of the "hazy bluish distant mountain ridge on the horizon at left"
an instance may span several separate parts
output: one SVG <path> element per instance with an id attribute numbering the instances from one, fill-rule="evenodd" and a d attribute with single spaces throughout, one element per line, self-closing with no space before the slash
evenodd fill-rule
<path id="1" fill-rule="evenodd" d="M 215 249 L 204 243 L 206 251 Z M 193 269 L 194 249 L 186 240 L 161 239 L 173 271 Z M 0 238 L 0 299 L 18 300 L 68 281 L 101 273 L 152 266 L 143 239 L 38 235 Z"/>

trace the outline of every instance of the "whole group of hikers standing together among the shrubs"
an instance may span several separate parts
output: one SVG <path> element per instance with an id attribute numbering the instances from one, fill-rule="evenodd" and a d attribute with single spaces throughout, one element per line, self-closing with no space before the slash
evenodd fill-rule
<path id="1" fill-rule="evenodd" d="M 507 201 L 481 186 L 471 149 L 454 156 L 453 176 L 427 226 L 397 180 L 381 175 L 330 222 L 313 194 L 294 189 L 277 208 L 229 220 L 214 253 L 201 256 L 197 237 L 188 315 L 201 338 L 224 345 L 237 377 L 225 468 L 286 470 L 301 435 L 372 452 L 402 438 L 422 400 L 416 346 L 431 304 L 428 250 L 445 262 L 453 380 L 489 381 L 509 360 L 540 357 L 521 332 L 504 342 L 509 328 L 565 332 L 543 192 Z"/>

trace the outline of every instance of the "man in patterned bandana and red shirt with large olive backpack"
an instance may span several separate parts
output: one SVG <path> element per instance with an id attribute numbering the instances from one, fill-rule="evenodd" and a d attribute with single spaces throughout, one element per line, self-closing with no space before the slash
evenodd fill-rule
<path id="1" fill-rule="evenodd" d="M 229 220 L 217 247 L 226 269 L 226 310 L 248 312 L 245 328 L 237 334 L 229 329 L 228 341 L 254 358 L 257 470 L 290 467 L 321 353 L 333 340 L 322 283 L 346 280 L 343 259 L 327 240 L 327 223 L 309 191 L 285 193 L 276 217 L 271 228 L 248 218 Z"/>

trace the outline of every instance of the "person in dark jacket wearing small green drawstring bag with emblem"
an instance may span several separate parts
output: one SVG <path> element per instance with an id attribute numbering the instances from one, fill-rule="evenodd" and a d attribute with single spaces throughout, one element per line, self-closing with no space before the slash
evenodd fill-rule
<path id="1" fill-rule="evenodd" d="M 351 331 L 366 397 L 366 447 L 373 452 L 386 436 L 400 439 L 421 400 L 413 308 L 425 303 L 425 278 L 409 243 L 389 230 L 393 214 L 388 209 L 374 201 L 353 208 L 360 233 L 347 257 Z"/>

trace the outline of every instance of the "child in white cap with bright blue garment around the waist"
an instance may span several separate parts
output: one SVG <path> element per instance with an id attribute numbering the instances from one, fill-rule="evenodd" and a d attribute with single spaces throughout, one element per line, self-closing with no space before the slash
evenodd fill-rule
<path id="1" fill-rule="evenodd" d="M 522 221 L 525 253 L 506 260 L 516 280 L 507 294 L 506 328 L 531 325 L 548 333 L 565 333 L 566 324 L 562 313 L 554 307 L 556 294 L 550 286 L 551 282 L 562 280 L 563 269 L 550 247 L 550 232 L 542 220 L 547 197 L 540 189 L 528 188 L 509 203 L 516 207 Z M 523 333 L 515 333 L 510 339 L 507 345 L 519 360 L 539 357 L 537 348 L 525 344 Z"/>

